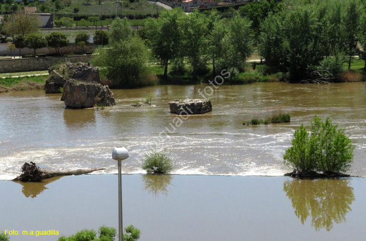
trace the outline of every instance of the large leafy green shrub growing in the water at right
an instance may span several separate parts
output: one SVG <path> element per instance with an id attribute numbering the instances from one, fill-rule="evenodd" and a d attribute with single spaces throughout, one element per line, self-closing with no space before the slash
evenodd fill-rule
<path id="1" fill-rule="evenodd" d="M 293 175 L 321 172 L 324 176 L 344 176 L 353 161 L 350 138 L 329 118 L 325 122 L 315 116 L 311 135 L 304 125 L 295 131 L 292 147 L 286 150 L 284 163 L 293 168 Z M 315 173 L 316 175 L 316 173 Z"/>

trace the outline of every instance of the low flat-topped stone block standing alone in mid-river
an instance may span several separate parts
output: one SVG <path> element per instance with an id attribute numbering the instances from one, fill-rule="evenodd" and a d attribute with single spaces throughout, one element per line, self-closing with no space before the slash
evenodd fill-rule
<path id="1" fill-rule="evenodd" d="M 169 102 L 170 112 L 178 115 L 203 114 L 212 111 L 211 100 L 186 99 Z"/>

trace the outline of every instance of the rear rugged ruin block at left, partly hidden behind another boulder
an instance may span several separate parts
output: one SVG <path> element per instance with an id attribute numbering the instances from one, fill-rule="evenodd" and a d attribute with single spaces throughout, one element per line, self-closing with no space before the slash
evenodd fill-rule
<path id="1" fill-rule="evenodd" d="M 66 80 L 100 83 L 99 69 L 87 63 L 64 63 L 48 68 L 48 79 L 44 86 L 47 94 L 61 93 Z"/>

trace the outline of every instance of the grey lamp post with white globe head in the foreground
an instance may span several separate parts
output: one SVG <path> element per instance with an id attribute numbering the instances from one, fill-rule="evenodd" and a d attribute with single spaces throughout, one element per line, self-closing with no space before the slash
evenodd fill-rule
<path id="1" fill-rule="evenodd" d="M 123 241 L 123 226 L 122 226 L 122 160 L 127 159 L 129 153 L 126 148 L 117 146 L 113 149 L 112 158 L 118 161 L 118 233 L 119 241 Z"/>

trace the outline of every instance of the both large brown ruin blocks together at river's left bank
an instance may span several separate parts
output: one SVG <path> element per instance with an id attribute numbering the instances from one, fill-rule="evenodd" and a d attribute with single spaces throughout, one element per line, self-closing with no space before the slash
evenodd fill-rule
<path id="1" fill-rule="evenodd" d="M 102 85 L 99 69 L 86 63 L 65 63 L 48 69 L 46 93 L 62 93 L 66 107 L 90 108 L 116 104 L 113 93 Z"/>

